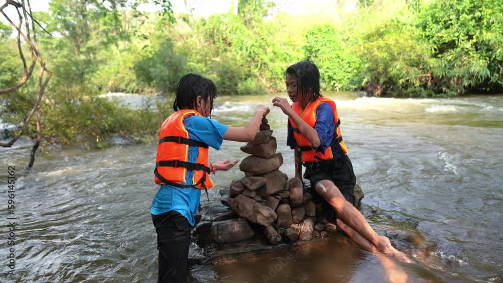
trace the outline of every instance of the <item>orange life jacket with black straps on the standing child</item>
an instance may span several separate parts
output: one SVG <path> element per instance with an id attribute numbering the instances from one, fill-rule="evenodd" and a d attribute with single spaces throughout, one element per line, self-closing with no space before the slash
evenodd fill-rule
<path id="1" fill-rule="evenodd" d="M 195 110 L 179 110 L 162 123 L 154 169 L 156 184 L 200 189 L 213 187 L 209 177 L 208 145 L 190 139 L 184 126 L 184 119 L 192 115 L 201 116 Z M 199 147 L 196 163 L 189 162 L 189 145 Z M 186 184 L 187 169 L 194 170 L 190 184 Z"/>

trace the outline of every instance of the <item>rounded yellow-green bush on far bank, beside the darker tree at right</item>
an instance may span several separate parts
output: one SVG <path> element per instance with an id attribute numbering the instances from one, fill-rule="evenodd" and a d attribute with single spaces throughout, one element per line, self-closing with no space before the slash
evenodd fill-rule
<path id="1" fill-rule="evenodd" d="M 365 58 L 362 86 L 370 95 L 425 96 L 431 87 L 428 46 L 399 22 L 389 21 L 365 34 L 356 49 Z"/>

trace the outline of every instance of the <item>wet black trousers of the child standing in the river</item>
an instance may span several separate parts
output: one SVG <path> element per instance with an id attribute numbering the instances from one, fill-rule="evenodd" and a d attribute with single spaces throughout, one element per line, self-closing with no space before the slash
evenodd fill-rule
<path id="1" fill-rule="evenodd" d="M 191 225 L 177 211 L 151 216 L 159 250 L 157 282 L 182 283 L 187 274 Z"/>

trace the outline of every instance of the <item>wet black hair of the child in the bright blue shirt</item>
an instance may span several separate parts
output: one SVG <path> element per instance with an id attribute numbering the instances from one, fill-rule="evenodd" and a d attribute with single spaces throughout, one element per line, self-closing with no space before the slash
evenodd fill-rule
<path id="1" fill-rule="evenodd" d="M 194 109 L 194 103 L 198 96 L 201 96 L 205 104 L 208 97 L 210 98 L 211 107 L 208 117 L 211 118 L 213 101 L 217 97 L 217 88 L 213 81 L 198 74 L 186 74 L 178 81 L 173 110 Z"/>

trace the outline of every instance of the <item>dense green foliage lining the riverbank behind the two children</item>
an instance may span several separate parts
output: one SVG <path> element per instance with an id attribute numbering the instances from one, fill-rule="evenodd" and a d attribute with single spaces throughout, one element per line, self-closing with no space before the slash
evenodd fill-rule
<path id="1" fill-rule="evenodd" d="M 354 2 L 339 1 L 337 15 L 297 16 L 240 0 L 236 14 L 208 18 L 173 14 L 166 0 L 154 1 L 159 13 L 138 12 L 143 2 L 52 0 L 49 13 L 35 14 L 55 35 L 38 33 L 53 71 L 42 105 L 46 144 L 102 147 L 112 133 L 148 140 L 169 106 L 132 110 L 98 95 L 171 96 L 188 72 L 211 78 L 219 95 L 283 91 L 284 71 L 302 59 L 318 65 L 325 90 L 405 97 L 502 91 L 503 0 L 359 0 L 348 12 L 344 5 Z M 22 75 L 12 35 L 0 24 L 0 88 Z M 22 125 L 36 79 L 2 97 L 0 119 Z M 34 133 L 33 121 L 27 135 Z"/>

